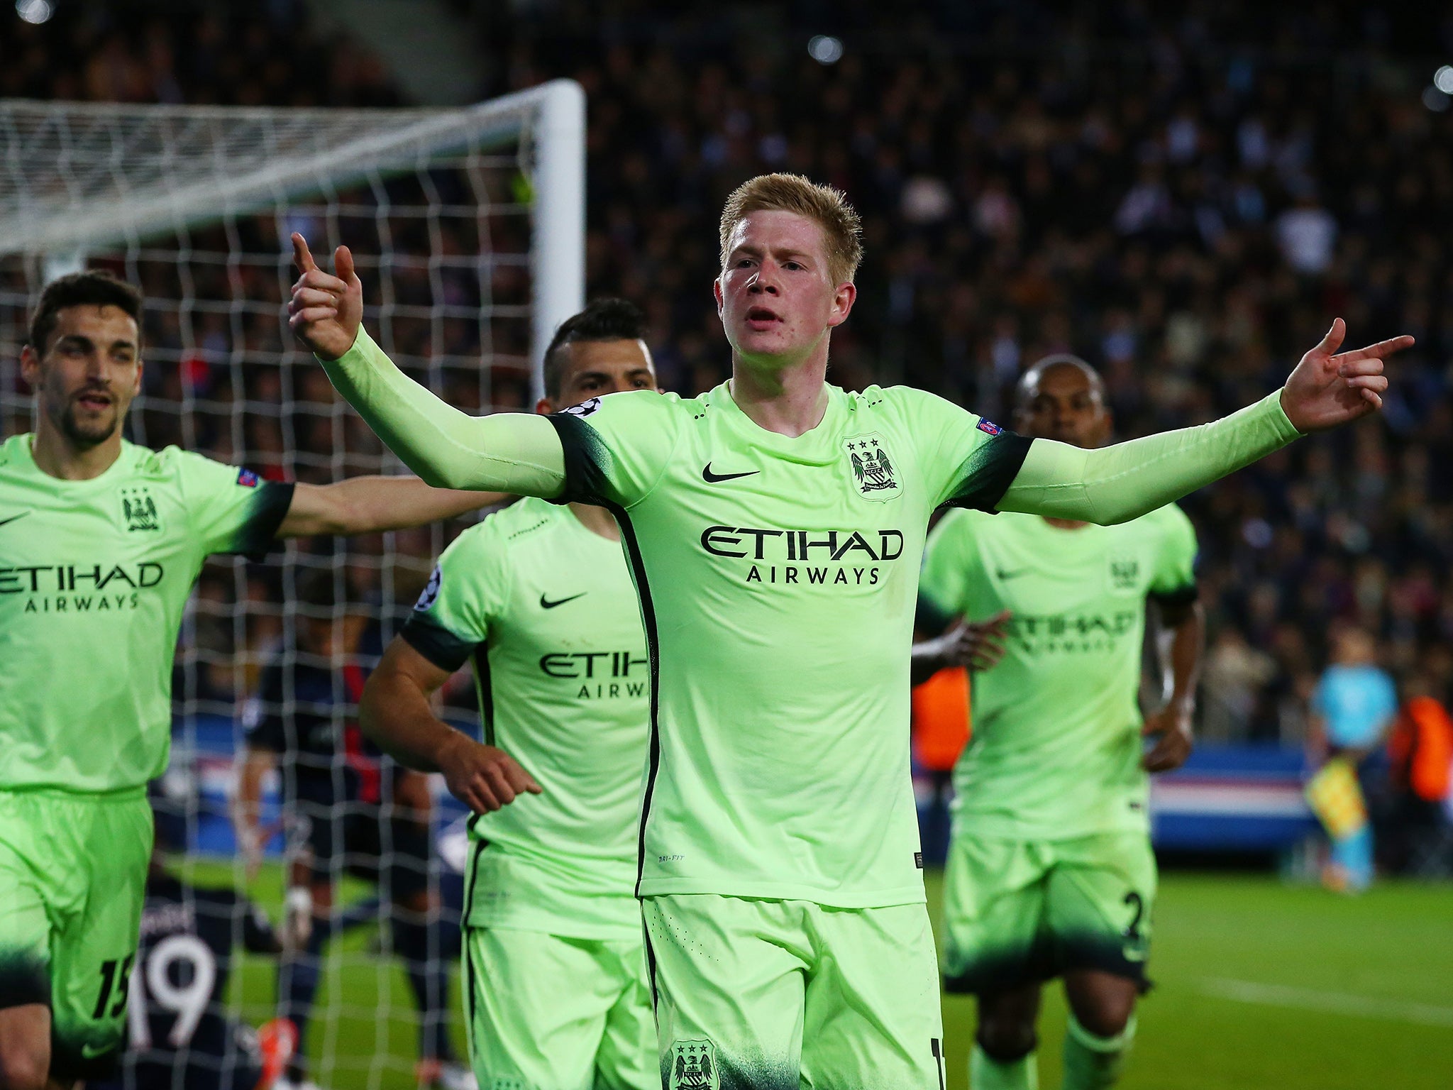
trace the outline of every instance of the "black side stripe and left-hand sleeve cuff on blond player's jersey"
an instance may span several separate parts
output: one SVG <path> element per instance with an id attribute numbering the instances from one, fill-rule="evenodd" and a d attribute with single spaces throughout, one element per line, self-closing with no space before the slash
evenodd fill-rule
<path id="1" fill-rule="evenodd" d="M 555 503 L 594 503 L 613 516 L 620 526 L 620 541 L 626 546 L 626 561 L 631 564 L 631 578 L 635 581 L 636 599 L 641 602 L 641 626 L 645 629 L 645 653 L 651 660 L 651 763 L 645 778 L 645 796 L 641 802 L 641 827 L 636 836 L 636 897 L 641 895 L 641 875 L 645 872 L 645 823 L 651 817 L 651 795 L 655 791 L 655 776 L 661 770 L 661 683 L 658 679 L 661 654 L 655 629 L 655 606 L 651 602 L 651 586 L 645 577 L 645 561 L 641 557 L 641 542 L 636 539 L 631 514 L 612 500 L 607 491 L 604 465 L 610 458 L 606 445 L 596 430 L 570 413 L 555 413 L 546 417 L 559 436 L 565 452 L 565 491 Z"/>

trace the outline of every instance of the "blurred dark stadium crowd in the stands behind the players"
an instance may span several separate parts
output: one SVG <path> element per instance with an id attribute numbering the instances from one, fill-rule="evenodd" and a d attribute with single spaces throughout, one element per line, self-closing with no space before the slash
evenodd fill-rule
<path id="1" fill-rule="evenodd" d="M 1019 371 L 1069 350 L 1103 369 L 1128 437 L 1261 397 L 1332 315 L 1357 343 L 1415 334 L 1380 419 L 1186 501 L 1212 632 L 1202 728 L 1299 743 L 1340 623 L 1376 634 L 1386 666 L 1449 693 L 1453 247 L 1431 227 L 1453 203 L 1453 112 L 1427 84 L 1438 48 L 1453 55 L 1453 19 L 1341 3 L 944 0 L 910 15 L 812 0 L 450 3 L 490 57 L 478 97 L 555 76 L 586 86 L 588 292 L 647 310 L 667 388 L 690 394 L 726 375 L 709 295 L 716 217 L 738 182 L 764 170 L 831 182 L 863 214 L 859 302 L 833 347 L 831 378 L 847 387 L 910 382 L 1003 417 Z M 347 39 L 324 48 L 292 0 L 187 17 L 128 19 L 125 9 L 7 25 L 0 93 L 401 102 L 375 57 Z M 837 38 L 809 55 L 822 29 Z M 278 235 L 267 221 L 247 230 L 248 251 L 266 253 Z M 376 251 L 373 228 L 349 230 L 360 253 Z M 453 251 L 479 246 L 466 225 L 445 234 Z M 408 251 L 407 231 L 394 247 Z M 154 301 L 169 275 L 145 283 Z M 427 276 L 407 262 L 391 275 L 392 298 L 427 302 Z M 148 340 L 179 362 L 196 344 L 218 359 L 241 347 L 301 360 L 273 314 L 289 279 L 280 263 L 240 283 L 198 273 L 193 295 L 218 305 L 161 308 Z M 468 305 L 523 301 L 526 289 L 497 269 L 491 283 L 462 276 L 450 294 Z M 256 307 L 234 321 L 238 294 Z M 13 342 L 16 314 L 0 320 Z M 461 405 L 525 405 L 523 324 L 490 344 L 466 321 L 442 331 L 405 323 L 394 336 L 418 363 L 491 356 L 490 384 L 446 387 Z M 160 407 L 205 384 L 206 352 L 192 371 L 151 374 L 147 442 L 185 437 L 177 413 Z M 321 372 L 289 371 L 256 366 L 247 389 L 206 397 L 218 420 L 238 400 L 285 401 L 291 413 L 259 416 L 243 436 L 203 426 L 193 445 L 304 480 L 373 468 L 376 442 L 334 417 Z M 402 549 L 426 554 L 430 542 Z M 357 571 L 376 589 L 376 564 Z M 423 574 L 397 581 L 400 602 Z M 228 619 L 231 577 L 203 580 L 201 593 L 212 602 L 201 634 L 209 661 L 276 639 L 262 603 L 279 587 L 266 568 L 248 577 L 259 607 L 246 626 Z M 218 699 L 237 685 L 228 669 L 209 676 Z"/>

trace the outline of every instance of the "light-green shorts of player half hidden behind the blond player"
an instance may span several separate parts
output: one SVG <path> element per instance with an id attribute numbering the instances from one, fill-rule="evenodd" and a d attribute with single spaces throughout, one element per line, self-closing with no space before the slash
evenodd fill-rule
<path id="1" fill-rule="evenodd" d="M 479 1090 L 657 1090 L 641 940 L 465 927 Z"/>

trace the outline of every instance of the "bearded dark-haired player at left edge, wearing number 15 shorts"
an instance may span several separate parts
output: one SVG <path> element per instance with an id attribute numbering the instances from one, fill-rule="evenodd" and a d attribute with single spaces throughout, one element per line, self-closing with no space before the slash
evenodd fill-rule
<path id="1" fill-rule="evenodd" d="M 100 1077 L 122 1043 L 167 764 L 171 655 L 208 555 L 418 526 L 490 497 L 413 478 L 272 484 L 122 439 L 141 294 L 46 285 L 20 369 L 35 433 L 0 445 L 0 1087 Z"/>

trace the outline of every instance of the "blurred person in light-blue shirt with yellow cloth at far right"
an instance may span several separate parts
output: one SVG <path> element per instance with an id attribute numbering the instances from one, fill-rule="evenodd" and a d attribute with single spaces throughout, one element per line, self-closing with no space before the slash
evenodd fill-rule
<path id="1" fill-rule="evenodd" d="M 1383 741 L 1398 714 L 1398 690 L 1377 666 L 1361 628 L 1332 637 L 1332 664 L 1312 692 L 1311 753 L 1318 773 L 1308 798 L 1332 840 L 1322 881 L 1332 889 L 1366 889 L 1373 878 L 1373 831 L 1364 779 L 1385 762 Z"/>

